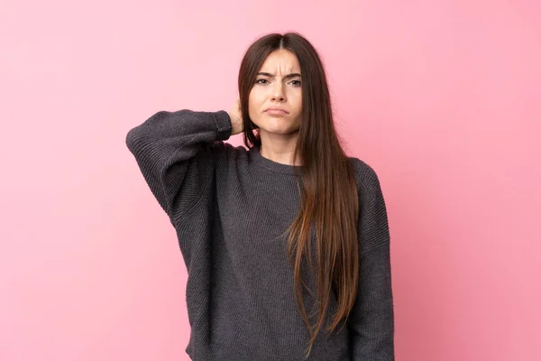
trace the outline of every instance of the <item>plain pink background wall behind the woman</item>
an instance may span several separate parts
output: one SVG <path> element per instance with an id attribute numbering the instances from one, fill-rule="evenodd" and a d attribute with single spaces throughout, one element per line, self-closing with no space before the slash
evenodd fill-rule
<path id="1" fill-rule="evenodd" d="M 1 360 L 188 359 L 186 269 L 124 136 L 161 109 L 228 109 L 246 47 L 288 30 L 380 174 L 397 359 L 541 359 L 541 3 L 11 3 Z"/>

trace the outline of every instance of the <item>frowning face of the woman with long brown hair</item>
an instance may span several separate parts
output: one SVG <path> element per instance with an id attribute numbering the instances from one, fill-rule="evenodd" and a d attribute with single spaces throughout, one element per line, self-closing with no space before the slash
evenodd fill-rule
<path id="1" fill-rule="evenodd" d="M 302 96 L 300 66 L 293 52 L 280 49 L 269 54 L 250 91 L 248 109 L 260 134 L 290 135 L 298 131 Z"/>

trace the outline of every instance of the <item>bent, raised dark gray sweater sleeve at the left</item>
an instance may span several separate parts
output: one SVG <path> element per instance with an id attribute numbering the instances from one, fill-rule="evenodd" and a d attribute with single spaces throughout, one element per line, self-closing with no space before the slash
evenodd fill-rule
<path id="1" fill-rule="evenodd" d="M 130 130 L 126 145 L 168 215 L 186 212 L 212 182 L 214 154 L 231 135 L 225 111 L 161 111 Z"/>

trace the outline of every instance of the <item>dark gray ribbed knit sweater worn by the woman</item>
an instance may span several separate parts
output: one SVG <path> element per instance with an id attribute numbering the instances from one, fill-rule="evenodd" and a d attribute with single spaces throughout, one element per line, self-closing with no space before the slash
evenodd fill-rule
<path id="1" fill-rule="evenodd" d="M 126 138 L 188 269 L 186 352 L 196 361 L 303 360 L 309 335 L 284 236 L 300 206 L 298 176 L 257 147 L 225 143 L 231 129 L 225 111 L 180 110 L 151 116 Z M 350 159 L 361 205 L 359 295 L 346 327 L 320 332 L 306 359 L 394 360 L 385 203 L 376 173 Z M 310 273 L 303 277 L 316 286 Z M 304 300 L 312 310 L 314 296 L 306 292 Z M 332 298 L 330 314 L 334 306 Z"/>

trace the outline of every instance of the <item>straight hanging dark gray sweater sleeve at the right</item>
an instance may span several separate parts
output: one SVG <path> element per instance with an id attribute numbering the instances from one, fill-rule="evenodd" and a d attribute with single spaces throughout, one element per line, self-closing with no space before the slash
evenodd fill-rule
<path id="1" fill-rule="evenodd" d="M 365 169 L 360 187 L 360 279 L 349 319 L 353 361 L 394 360 L 390 233 L 380 182 Z"/>

